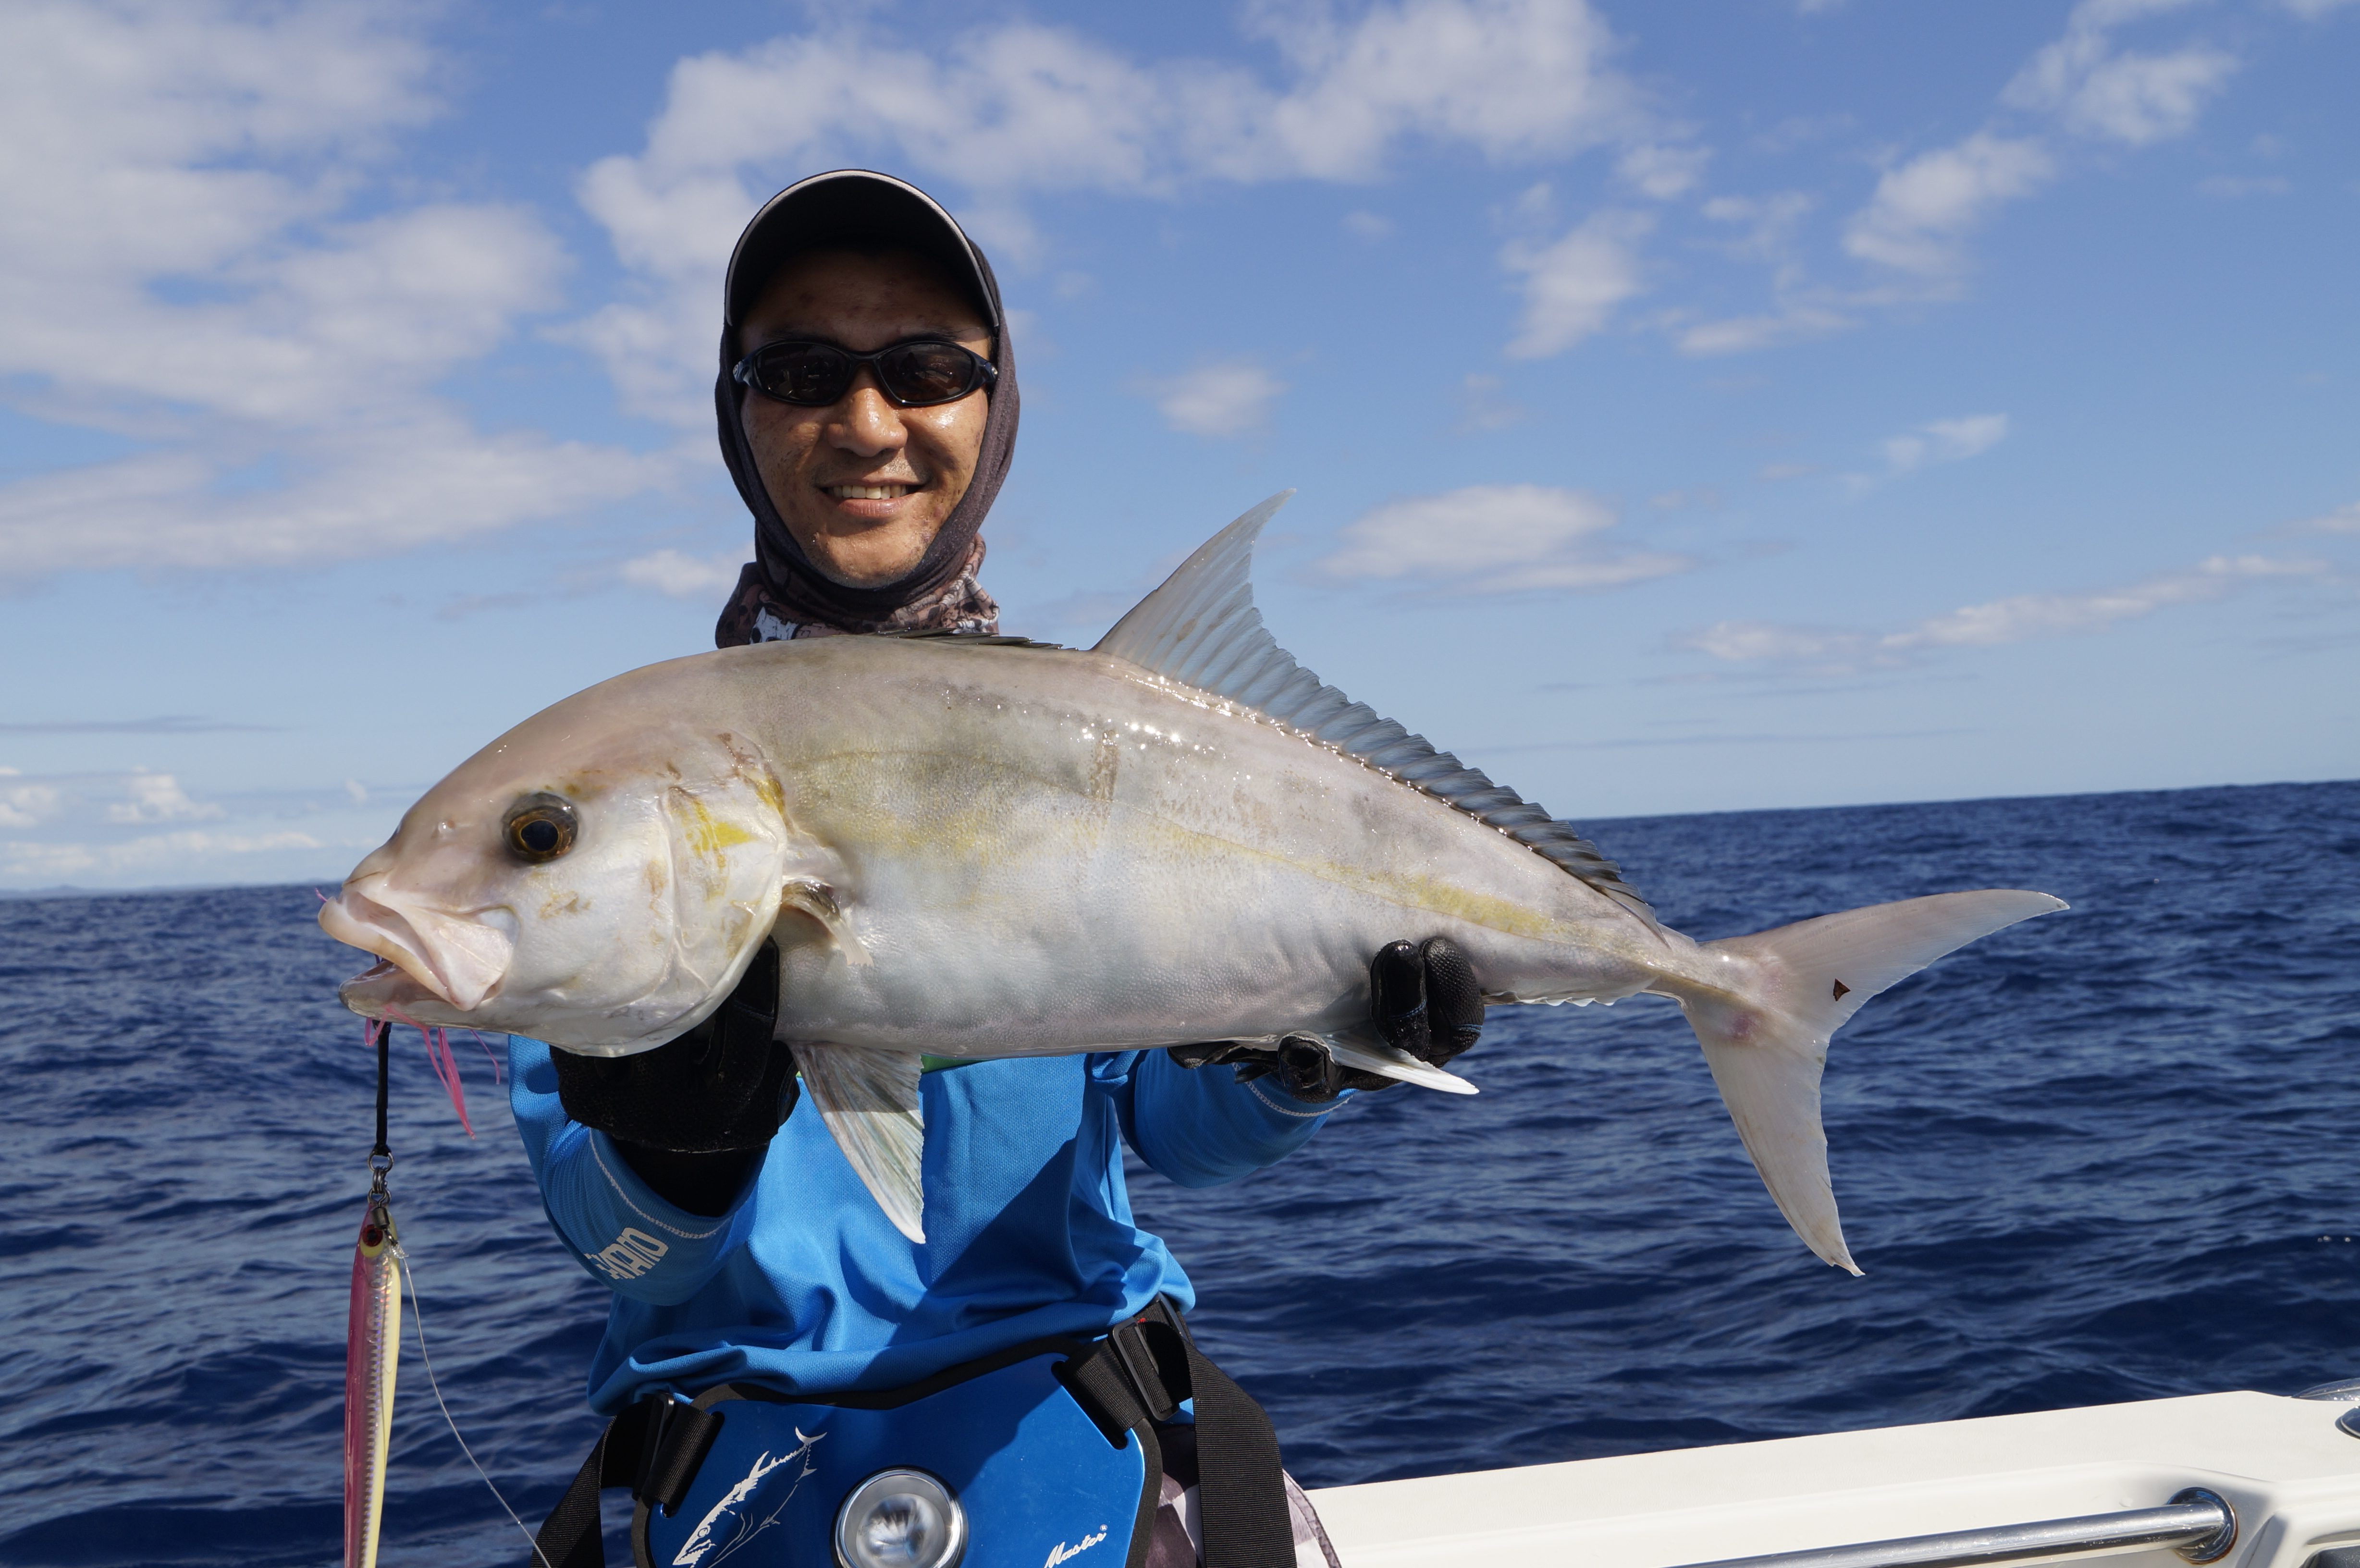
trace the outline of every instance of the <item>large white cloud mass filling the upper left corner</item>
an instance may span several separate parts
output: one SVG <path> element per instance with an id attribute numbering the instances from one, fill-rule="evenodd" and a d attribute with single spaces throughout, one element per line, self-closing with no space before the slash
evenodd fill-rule
<path id="1" fill-rule="evenodd" d="M 394 550 L 647 484 L 437 394 L 557 305 L 529 213 L 380 208 L 437 61 L 389 5 L 0 9 L 0 378 L 144 451 L 0 486 L 0 576 Z M 392 494 L 382 486 L 392 484 Z M 401 508 L 422 515 L 401 515 Z"/>

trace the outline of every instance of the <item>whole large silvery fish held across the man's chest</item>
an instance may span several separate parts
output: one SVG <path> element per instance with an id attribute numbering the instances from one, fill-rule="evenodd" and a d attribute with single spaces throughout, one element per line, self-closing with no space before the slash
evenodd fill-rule
<path id="1" fill-rule="evenodd" d="M 368 1018 L 590 1056 L 701 1023 L 776 937 L 779 1039 L 923 1237 L 920 1053 L 1371 1032 L 1369 954 L 1466 949 L 1484 1001 L 1673 999 L 1779 1211 L 1853 1268 L 1820 1067 L 1860 1004 L 2034 914 L 1945 893 L 1692 942 L 1572 827 L 1293 661 L 1248 586 L 1274 496 L 1088 649 L 814 638 L 673 659 L 460 763 L 321 909 Z M 1857 1270 L 1855 1270 L 1857 1273 Z"/>

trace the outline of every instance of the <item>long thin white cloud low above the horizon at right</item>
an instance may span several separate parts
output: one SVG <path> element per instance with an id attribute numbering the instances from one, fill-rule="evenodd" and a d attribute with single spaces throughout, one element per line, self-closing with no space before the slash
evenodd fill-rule
<path id="1" fill-rule="evenodd" d="M 1982 605 L 1964 605 L 1928 616 L 1895 633 L 1831 631 L 1820 626 L 1779 626 L 1775 621 L 1720 621 L 1685 633 L 1673 642 L 1728 664 L 1784 664 L 1817 671 L 1895 666 L 1914 654 L 1940 647 L 1999 647 L 2093 633 L 2171 609 L 2223 600 L 2247 583 L 2266 579 L 2322 576 L 2327 567 L 2310 560 L 2273 560 L 2266 555 L 2214 555 L 2188 571 L 2166 571 L 2124 588 L 2098 593 L 2018 593 Z"/>

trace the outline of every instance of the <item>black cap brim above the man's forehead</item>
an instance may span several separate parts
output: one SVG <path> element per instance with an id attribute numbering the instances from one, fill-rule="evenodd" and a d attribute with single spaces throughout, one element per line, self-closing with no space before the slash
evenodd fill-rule
<path id="1" fill-rule="evenodd" d="M 729 255 L 722 293 L 727 326 L 746 319 L 755 295 L 788 255 L 847 241 L 906 246 L 937 262 L 972 293 L 986 326 L 998 335 L 1001 314 L 989 274 L 958 220 L 906 179 L 864 168 L 798 179 L 762 203 Z"/>

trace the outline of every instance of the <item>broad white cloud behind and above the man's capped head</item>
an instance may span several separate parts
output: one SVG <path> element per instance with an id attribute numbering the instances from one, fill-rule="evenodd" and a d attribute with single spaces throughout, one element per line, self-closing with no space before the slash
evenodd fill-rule
<path id="1" fill-rule="evenodd" d="M 968 191 L 994 243 L 1036 243 L 1041 191 L 1166 196 L 1197 182 L 1376 177 L 1409 139 L 1553 158 L 1638 130 L 1633 87 L 1586 0 L 1381 0 L 1253 14 L 1284 78 L 1135 59 L 1071 28 L 1005 21 L 935 50 L 854 21 L 673 66 L 635 156 L 595 163 L 581 201 L 642 298 L 578 328 L 628 406 L 710 418 L 713 300 L 760 196 L 831 163 Z"/>

